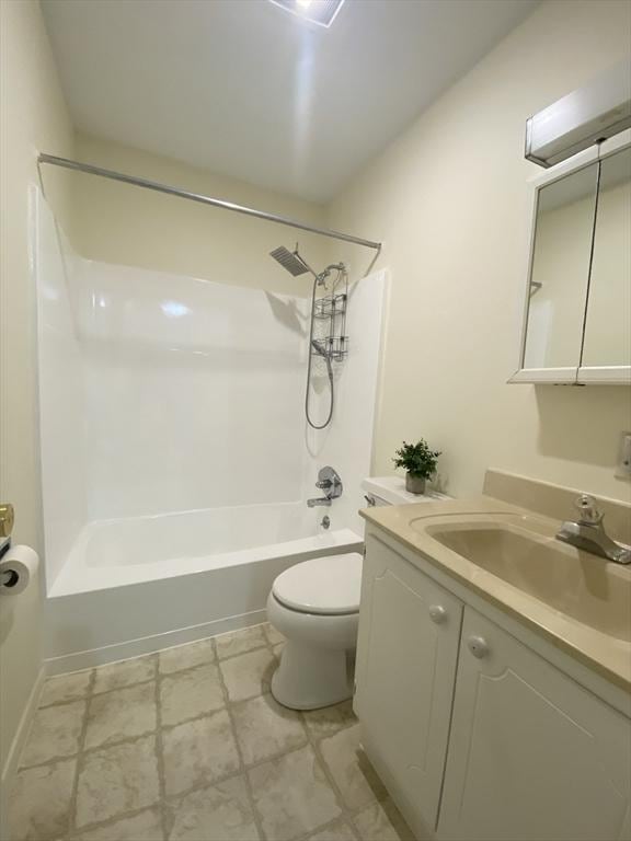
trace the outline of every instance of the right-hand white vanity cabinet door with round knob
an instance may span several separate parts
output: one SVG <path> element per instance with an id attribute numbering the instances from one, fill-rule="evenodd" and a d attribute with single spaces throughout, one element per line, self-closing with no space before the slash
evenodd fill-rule
<path id="1" fill-rule="evenodd" d="M 630 728 L 628 718 L 466 608 L 438 838 L 624 838 Z"/>

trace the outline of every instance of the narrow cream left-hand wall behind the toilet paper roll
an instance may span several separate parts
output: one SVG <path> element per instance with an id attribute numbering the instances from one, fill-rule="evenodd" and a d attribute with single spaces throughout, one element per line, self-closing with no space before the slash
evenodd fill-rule
<path id="1" fill-rule="evenodd" d="M 41 550 L 36 456 L 35 299 L 28 273 L 27 191 L 39 149 L 72 155 L 72 133 L 39 5 L 0 2 L 0 498 L 15 506 L 14 537 Z M 68 218 L 62 175 L 48 189 Z M 41 667 L 41 583 L 0 598 L 0 767 Z"/>

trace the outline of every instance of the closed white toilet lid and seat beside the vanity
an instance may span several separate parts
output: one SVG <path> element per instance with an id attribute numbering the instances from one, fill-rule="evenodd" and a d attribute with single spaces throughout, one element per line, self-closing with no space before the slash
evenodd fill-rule
<path id="1" fill-rule="evenodd" d="M 313 557 L 280 573 L 272 592 L 280 604 L 299 613 L 358 613 L 362 563 L 356 552 Z"/>

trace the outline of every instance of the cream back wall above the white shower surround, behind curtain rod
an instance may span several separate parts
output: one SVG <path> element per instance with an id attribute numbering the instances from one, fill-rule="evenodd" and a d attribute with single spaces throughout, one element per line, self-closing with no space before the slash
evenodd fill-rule
<path id="1" fill-rule="evenodd" d="M 88 163 L 205 193 L 236 204 L 324 223 L 324 208 L 169 158 L 95 138 L 77 138 L 77 157 Z M 87 257 L 157 268 L 277 292 L 307 291 L 271 257 L 277 245 L 294 247 L 317 269 L 328 241 L 292 228 L 252 219 L 172 196 L 73 173 L 73 242 Z"/>

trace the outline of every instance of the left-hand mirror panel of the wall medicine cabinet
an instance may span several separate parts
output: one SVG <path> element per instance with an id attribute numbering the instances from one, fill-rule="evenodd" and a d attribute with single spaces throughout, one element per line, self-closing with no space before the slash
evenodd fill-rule
<path id="1" fill-rule="evenodd" d="M 576 368 L 589 278 L 598 163 L 538 191 L 523 368 Z"/>

